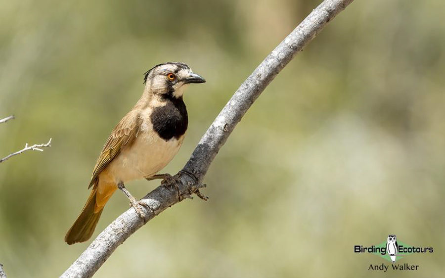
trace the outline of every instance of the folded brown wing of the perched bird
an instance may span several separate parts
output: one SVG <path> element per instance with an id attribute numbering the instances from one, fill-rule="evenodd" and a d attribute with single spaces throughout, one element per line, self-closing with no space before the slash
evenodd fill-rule
<path id="1" fill-rule="evenodd" d="M 113 129 L 97 159 L 96 166 L 94 166 L 88 188 L 96 183 L 100 172 L 121 152 L 121 149 L 133 143 L 139 132 L 138 121 L 138 113 L 136 111 L 130 111 Z"/>

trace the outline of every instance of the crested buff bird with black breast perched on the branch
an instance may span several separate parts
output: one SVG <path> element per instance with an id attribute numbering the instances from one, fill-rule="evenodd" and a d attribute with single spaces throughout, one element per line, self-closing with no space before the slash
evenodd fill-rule
<path id="1" fill-rule="evenodd" d="M 84 242 L 91 237 L 106 202 L 118 188 L 142 216 L 141 203 L 125 183 L 172 180 L 169 174 L 157 173 L 178 153 L 187 131 L 188 115 L 182 96 L 189 84 L 204 82 L 182 62 L 158 64 L 144 73 L 144 91 L 105 142 L 91 176 L 87 203 L 66 233 L 66 243 Z"/>

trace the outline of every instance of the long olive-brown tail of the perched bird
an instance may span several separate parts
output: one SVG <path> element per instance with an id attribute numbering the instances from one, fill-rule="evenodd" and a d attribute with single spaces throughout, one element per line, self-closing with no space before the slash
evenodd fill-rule
<path id="1" fill-rule="evenodd" d="M 97 210 L 97 208 L 94 209 L 96 204 L 96 193 L 97 186 L 94 186 L 81 214 L 65 235 L 66 243 L 73 244 L 76 242 L 84 242 L 91 237 L 103 211 L 103 206 L 99 210 Z"/>

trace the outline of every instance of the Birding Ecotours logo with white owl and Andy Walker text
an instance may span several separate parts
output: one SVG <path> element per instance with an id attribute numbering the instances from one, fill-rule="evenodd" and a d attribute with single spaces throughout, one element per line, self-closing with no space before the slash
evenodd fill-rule
<path id="1" fill-rule="evenodd" d="M 418 265 L 396 264 L 397 261 L 411 254 L 433 253 L 434 248 L 431 246 L 411 246 L 397 240 L 395 234 L 389 234 L 385 241 L 371 246 L 354 245 L 354 253 L 371 253 L 377 255 L 389 262 L 393 270 L 417 270 Z M 389 265 L 373 265 L 370 264 L 368 270 L 381 270 L 386 272 Z"/>

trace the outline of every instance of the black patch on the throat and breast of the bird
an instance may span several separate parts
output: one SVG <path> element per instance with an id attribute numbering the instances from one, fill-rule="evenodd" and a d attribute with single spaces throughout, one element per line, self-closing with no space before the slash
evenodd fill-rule
<path id="1" fill-rule="evenodd" d="M 188 125 L 187 109 L 182 96 L 176 98 L 167 94 L 166 105 L 156 107 L 150 116 L 154 131 L 164 140 L 179 139 L 185 134 Z"/>

